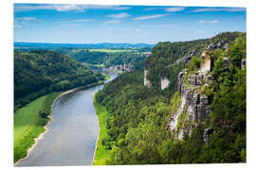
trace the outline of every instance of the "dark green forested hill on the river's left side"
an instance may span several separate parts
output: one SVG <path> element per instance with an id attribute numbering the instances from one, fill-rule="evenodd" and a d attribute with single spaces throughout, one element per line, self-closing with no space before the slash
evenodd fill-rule
<path id="1" fill-rule="evenodd" d="M 46 93 L 104 79 L 75 59 L 52 51 L 14 52 L 15 110 Z"/>

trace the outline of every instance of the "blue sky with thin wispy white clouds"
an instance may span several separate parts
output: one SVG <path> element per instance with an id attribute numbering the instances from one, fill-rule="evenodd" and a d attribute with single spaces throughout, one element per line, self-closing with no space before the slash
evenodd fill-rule
<path id="1" fill-rule="evenodd" d="M 246 8 L 14 4 L 14 42 L 177 42 L 246 31 Z"/>

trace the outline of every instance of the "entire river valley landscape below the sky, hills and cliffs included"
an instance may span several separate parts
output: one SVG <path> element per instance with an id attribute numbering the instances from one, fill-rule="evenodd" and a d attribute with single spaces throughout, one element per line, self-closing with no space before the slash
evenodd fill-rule
<path id="1" fill-rule="evenodd" d="M 224 32 L 153 48 L 14 48 L 14 161 L 245 162 L 246 36 Z"/>

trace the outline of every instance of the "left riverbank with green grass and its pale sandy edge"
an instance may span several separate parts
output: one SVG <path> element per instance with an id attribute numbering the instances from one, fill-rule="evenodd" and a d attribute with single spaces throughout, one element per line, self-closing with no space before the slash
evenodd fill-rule
<path id="1" fill-rule="evenodd" d="M 25 106 L 24 108 L 27 107 L 27 110 L 30 110 L 30 113 L 34 114 L 35 118 L 32 122 L 29 122 L 30 125 L 22 133 L 20 138 L 17 138 L 17 139 L 14 138 L 14 162 L 15 162 L 14 165 L 17 165 L 19 161 L 26 159 L 29 156 L 29 153 L 31 152 L 31 150 L 34 148 L 34 146 L 46 134 L 48 130 L 47 126 L 52 122 L 53 107 L 55 103 L 58 101 L 58 99 L 60 99 L 62 96 L 64 96 L 67 93 L 73 93 L 75 91 L 87 89 L 93 86 L 100 85 L 102 83 L 103 81 L 100 81 L 97 83 L 78 87 L 78 88 L 66 91 L 64 93 L 55 93 L 54 95 L 52 95 L 52 93 L 49 93 L 49 94 L 46 94 L 45 96 L 42 96 L 45 98 L 41 99 L 40 102 L 38 102 L 37 101 L 38 99 L 37 99 L 30 102 L 27 106 Z M 46 97 L 47 95 L 50 95 L 50 97 Z M 36 105 L 32 105 L 33 102 L 36 102 Z M 31 105 L 33 106 L 32 108 L 31 108 Z M 24 108 L 20 110 L 24 110 Z M 40 119 L 39 111 L 45 110 L 45 109 L 48 110 L 46 112 L 48 116 L 47 116 L 47 120 L 45 120 L 45 125 L 41 125 L 39 124 L 39 119 Z M 14 117 L 17 115 L 24 116 L 24 113 L 25 112 L 20 112 L 19 114 L 15 113 Z M 15 122 L 14 122 L 14 136 L 15 136 Z"/>

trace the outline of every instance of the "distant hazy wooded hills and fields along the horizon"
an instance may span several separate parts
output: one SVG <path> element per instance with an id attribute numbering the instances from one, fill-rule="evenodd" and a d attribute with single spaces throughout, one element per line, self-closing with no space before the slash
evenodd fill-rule
<path id="1" fill-rule="evenodd" d="M 44 44 L 41 44 L 42 47 L 39 48 L 37 45 L 40 44 L 27 44 L 28 46 L 22 46 L 19 45 L 20 43 L 16 44 L 15 51 L 21 51 L 21 52 L 29 52 L 34 51 L 36 49 L 38 50 L 47 50 L 47 51 L 55 51 L 61 54 L 64 54 L 66 56 L 69 56 L 73 59 L 76 59 L 80 62 L 85 62 L 88 64 L 95 64 L 95 65 L 101 65 L 105 68 L 111 67 L 113 65 L 123 65 L 130 63 L 133 65 L 133 70 L 139 70 L 144 67 L 144 61 L 146 57 L 148 56 L 146 53 L 150 52 L 152 47 L 151 45 L 148 46 L 141 46 L 137 48 L 99 48 L 99 49 L 84 49 L 81 48 L 80 45 L 78 47 L 67 47 L 63 45 L 63 47 L 54 47 L 52 45 L 49 45 L 46 47 Z M 29 46 L 31 45 L 31 46 Z M 146 44 L 145 44 L 146 45 Z"/>

